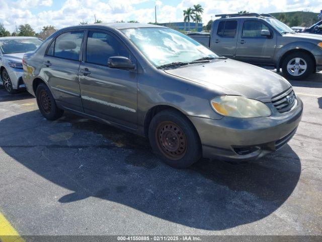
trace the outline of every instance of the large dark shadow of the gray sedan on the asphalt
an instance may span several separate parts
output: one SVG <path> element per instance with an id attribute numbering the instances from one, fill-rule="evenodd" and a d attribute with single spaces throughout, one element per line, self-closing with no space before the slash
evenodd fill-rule
<path id="1" fill-rule="evenodd" d="M 301 172 L 288 145 L 254 163 L 202 159 L 174 169 L 151 153 L 147 139 L 70 113 L 49 122 L 38 110 L 25 112 L 1 120 L 0 133 L 7 154 L 53 183 L 50 198 L 56 185 L 73 191 L 53 202 L 86 206 L 81 201 L 96 197 L 207 230 L 267 217 L 292 194 Z"/>

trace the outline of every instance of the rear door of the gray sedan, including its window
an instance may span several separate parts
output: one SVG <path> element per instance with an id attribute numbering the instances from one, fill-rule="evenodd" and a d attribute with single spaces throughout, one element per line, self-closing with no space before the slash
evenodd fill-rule
<path id="1" fill-rule="evenodd" d="M 56 99 L 63 107 L 83 112 L 78 68 L 84 30 L 68 31 L 52 41 L 44 56 L 42 71 Z"/>

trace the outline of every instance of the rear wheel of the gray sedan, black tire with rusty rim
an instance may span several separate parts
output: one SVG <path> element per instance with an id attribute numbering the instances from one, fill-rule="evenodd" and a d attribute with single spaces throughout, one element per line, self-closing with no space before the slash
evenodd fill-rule
<path id="1" fill-rule="evenodd" d="M 36 99 L 41 114 L 48 120 L 56 120 L 62 116 L 64 110 L 57 107 L 54 97 L 44 83 L 36 89 Z"/>

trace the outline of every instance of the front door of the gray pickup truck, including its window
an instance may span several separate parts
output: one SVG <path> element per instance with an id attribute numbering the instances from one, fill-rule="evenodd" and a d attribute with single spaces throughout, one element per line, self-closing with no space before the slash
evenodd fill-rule
<path id="1" fill-rule="evenodd" d="M 262 30 L 269 30 L 270 37 L 262 36 Z M 245 20 L 238 35 L 236 59 L 258 65 L 274 65 L 276 34 L 261 20 Z"/>

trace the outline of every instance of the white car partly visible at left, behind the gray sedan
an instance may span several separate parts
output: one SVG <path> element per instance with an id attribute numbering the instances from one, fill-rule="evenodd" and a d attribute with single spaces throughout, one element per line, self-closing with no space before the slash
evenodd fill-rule
<path id="1" fill-rule="evenodd" d="M 2 37 L 0 38 L 0 85 L 13 94 L 25 88 L 22 80 L 22 59 L 25 52 L 34 51 L 42 43 L 36 37 Z"/>

